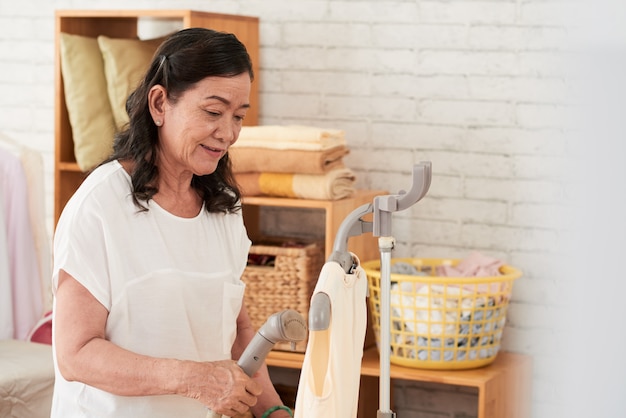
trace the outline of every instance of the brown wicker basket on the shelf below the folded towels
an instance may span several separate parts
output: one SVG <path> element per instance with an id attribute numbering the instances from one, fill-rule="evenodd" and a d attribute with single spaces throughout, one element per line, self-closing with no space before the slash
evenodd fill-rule
<path id="1" fill-rule="evenodd" d="M 264 243 L 252 245 L 250 254 L 275 257 L 272 266 L 249 264 L 243 273 L 244 303 L 254 328 L 258 330 L 272 314 L 284 309 L 299 312 L 308 323 L 311 296 L 324 264 L 323 246 Z M 274 346 L 275 350 L 291 351 L 291 348 L 289 343 Z M 295 351 L 305 350 L 306 340 L 296 344 Z"/>

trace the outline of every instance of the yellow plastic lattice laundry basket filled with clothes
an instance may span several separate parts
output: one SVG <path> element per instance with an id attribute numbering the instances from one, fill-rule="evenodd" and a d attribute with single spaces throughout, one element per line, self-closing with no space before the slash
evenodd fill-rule
<path id="1" fill-rule="evenodd" d="M 510 266 L 493 277 L 437 277 L 451 259 L 392 259 L 423 276 L 391 274 L 390 362 L 420 369 L 460 370 L 492 363 L 500 348 L 513 282 Z M 380 261 L 362 264 L 369 281 L 372 328 L 380 349 Z"/>

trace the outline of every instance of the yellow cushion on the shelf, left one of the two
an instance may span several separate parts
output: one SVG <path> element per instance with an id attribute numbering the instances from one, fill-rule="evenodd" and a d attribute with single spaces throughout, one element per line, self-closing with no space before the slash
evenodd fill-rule
<path id="1" fill-rule="evenodd" d="M 61 72 L 74 154 L 83 171 L 112 151 L 115 121 L 96 38 L 61 33 Z"/>

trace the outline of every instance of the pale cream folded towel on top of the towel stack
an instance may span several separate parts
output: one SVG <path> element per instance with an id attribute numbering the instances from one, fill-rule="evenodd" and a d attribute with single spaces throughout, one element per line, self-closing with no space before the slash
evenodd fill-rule
<path id="1" fill-rule="evenodd" d="M 302 125 L 244 126 L 233 148 L 253 147 L 319 151 L 346 145 L 345 132 Z"/>

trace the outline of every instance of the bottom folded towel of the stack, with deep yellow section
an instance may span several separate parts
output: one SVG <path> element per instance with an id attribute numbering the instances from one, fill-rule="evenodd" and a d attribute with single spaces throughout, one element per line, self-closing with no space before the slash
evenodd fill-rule
<path id="1" fill-rule="evenodd" d="M 244 196 L 339 200 L 352 196 L 356 177 L 349 168 L 326 174 L 237 173 Z"/>

